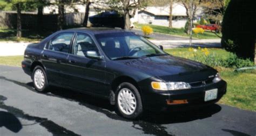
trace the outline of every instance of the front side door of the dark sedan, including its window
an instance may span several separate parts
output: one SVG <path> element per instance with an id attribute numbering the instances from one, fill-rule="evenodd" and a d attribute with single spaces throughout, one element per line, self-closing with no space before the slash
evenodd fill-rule
<path id="1" fill-rule="evenodd" d="M 105 60 L 85 57 L 86 51 L 100 52 L 93 39 L 86 33 L 77 33 L 68 60 L 68 80 L 66 84 L 80 91 L 106 96 Z"/>

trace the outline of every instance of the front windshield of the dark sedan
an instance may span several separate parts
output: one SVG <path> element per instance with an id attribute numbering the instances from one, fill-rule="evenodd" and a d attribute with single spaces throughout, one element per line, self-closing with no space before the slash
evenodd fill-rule
<path id="1" fill-rule="evenodd" d="M 107 57 L 112 60 L 166 55 L 147 39 L 132 32 L 114 32 L 95 35 Z"/>

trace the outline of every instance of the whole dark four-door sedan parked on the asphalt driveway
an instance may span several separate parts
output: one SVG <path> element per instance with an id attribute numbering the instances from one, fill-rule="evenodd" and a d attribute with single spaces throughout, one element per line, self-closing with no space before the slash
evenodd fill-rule
<path id="1" fill-rule="evenodd" d="M 22 67 L 39 92 L 51 85 L 109 99 L 128 119 L 214 104 L 227 86 L 212 67 L 119 29 L 55 32 L 26 48 Z"/>

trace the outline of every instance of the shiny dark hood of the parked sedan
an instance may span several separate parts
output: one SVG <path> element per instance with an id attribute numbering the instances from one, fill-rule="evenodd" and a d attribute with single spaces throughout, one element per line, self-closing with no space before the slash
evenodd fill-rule
<path id="1" fill-rule="evenodd" d="M 129 69 L 136 69 L 163 80 L 181 80 L 181 78 L 184 80 L 186 78 L 188 81 L 194 81 L 199 80 L 198 78 L 208 78 L 216 72 L 204 64 L 169 55 L 117 62 L 129 67 Z"/>

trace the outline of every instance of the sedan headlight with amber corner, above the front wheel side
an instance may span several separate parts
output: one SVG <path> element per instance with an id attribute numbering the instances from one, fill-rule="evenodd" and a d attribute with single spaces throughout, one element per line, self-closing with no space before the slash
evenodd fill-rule
<path id="1" fill-rule="evenodd" d="M 190 89 L 191 86 L 185 82 L 158 82 L 152 81 L 151 86 L 155 90 L 181 90 L 181 89 Z"/>

